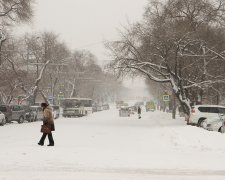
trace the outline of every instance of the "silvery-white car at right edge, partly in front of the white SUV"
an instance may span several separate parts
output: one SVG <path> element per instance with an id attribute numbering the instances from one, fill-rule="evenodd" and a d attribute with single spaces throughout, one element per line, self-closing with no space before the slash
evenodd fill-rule
<path id="1" fill-rule="evenodd" d="M 213 119 L 207 119 L 207 124 L 206 127 L 204 127 L 205 129 L 209 130 L 209 131 L 218 131 L 221 133 L 224 133 L 224 129 L 222 128 L 224 125 L 224 119 L 221 118 L 213 118 Z"/>

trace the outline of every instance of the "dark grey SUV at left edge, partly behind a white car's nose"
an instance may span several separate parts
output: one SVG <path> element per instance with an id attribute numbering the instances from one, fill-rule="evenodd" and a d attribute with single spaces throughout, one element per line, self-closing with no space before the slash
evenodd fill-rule
<path id="1" fill-rule="evenodd" d="M 0 105 L 0 111 L 5 115 L 6 122 L 23 123 L 25 120 L 25 110 L 20 105 Z"/>

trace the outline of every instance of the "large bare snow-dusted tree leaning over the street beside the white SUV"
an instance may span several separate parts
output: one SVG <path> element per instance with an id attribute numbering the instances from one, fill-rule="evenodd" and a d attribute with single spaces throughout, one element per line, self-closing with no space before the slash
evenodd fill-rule
<path id="1" fill-rule="evenodd" d="M 215 41 L 216 32 L 224 33 L 220 26 L 224 12 L 223 1 L 152 1 L 143 23 L 126 28 L 121 40 L 107 45 L 114 59 L 110 65 L 119 73 L 142 73 L 169 83 L 189 116 L 190 92 L 225 82 L 224 71 L 214 74 L 225 60 L 224 39 L 223 48 Z"/>

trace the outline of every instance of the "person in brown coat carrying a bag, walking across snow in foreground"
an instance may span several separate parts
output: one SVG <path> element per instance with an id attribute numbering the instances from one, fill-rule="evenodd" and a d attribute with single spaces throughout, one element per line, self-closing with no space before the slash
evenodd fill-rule
<path id="1" fill-rule="evenodd" d="M 47 103 L 41 103 L 41 107 L 43 108 L 43 125 L 49 127 L 49 132 L 43 132 L 43 135 L 38 142 L 40 146 L 44 145 L 44 141 L 46 136 L 48 135 L 49 145 L 54 146 L 54 140 L 52 136 L 52 131 L 55 131 L 55 125 L 53 121 L 52 109 Z"/>

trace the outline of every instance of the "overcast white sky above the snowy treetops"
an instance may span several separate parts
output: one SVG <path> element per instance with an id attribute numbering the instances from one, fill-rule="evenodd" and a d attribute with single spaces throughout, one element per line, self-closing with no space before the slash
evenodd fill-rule
<path id="1" fill-rule="evenodd" d="M 71 49 L 88 49 L 107 59 L 101 43 L 116 40 L 117 29 L 142 18 L 147 0 L 36 0 L 29 31 L 54 31 Z M 28 28 L 25 28 L 28 31 Z"/>

